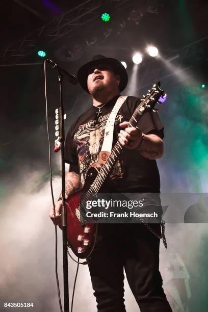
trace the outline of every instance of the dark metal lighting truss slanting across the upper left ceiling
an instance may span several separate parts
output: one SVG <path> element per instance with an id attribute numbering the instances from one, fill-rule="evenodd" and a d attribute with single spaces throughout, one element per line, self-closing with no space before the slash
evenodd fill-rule
<path id="1" fill-rule="evenodd" d="M 130 2 L 130 0 L 111 1 L 115 9 Z M 101 0 L 84 1 L 81 5 L 7 46 L 0 51 L 0 66 L 17 65 L 21 59 L 38 49 L 39 42 L 49 44 L 66 35 L 73 36 L 77 29 L 98 18 L 101 5 Z"/>

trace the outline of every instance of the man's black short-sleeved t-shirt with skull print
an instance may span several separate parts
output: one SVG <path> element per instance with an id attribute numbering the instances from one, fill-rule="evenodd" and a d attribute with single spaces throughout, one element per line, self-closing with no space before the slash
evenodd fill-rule
<path id="1" fill-rule="evenodd" d="M 103 135 L 108 117 L 118 96 L 111 99 L 101 108 L 92 106 L 82 114 L 69 128 L 65 141 L 65 162 L 70 164 L 70 171 L 81 175 L 82 182 L 89 166 L 96 165 L 101 150 Z M 118 140 L 119 123 L 129 121 L 140 99 L 128 96 L 118 111 L 114 126 L 113 145 Z M 101 105 L 100 105 L 101 106 Z M 146 112 L 137 126 L 144 134 L 156 134 L 163 138 L 163 124 L 156 112 Z M 160 192 L 160 175 L 155 160 L 143 158 L 134 149 L 123 148 L 111 174 L 112 192 Z"/>

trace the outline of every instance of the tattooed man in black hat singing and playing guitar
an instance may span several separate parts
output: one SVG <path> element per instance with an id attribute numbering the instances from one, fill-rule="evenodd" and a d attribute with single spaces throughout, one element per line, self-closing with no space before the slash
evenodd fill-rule
<path id="1" fill-rule="evenodd" d="M 127 72 L 116 59 L 95 56 L 77 72 L 82 88 L 91 94 L 93 106 L 71 125 L 65 141 L 66 194 L 85 183 L 89 167 L 100 167 L 99 153 L 108 117 L 127 85 Z M 163 155 L 163 124 L 157 112 L 146 112 L 136 127 L 129 127 L 140 99 L 127 96 L 115 118 L 113 145 L 123 152 L 108 177 L 111 192 L 160 193 L 155 159 Z M 62 194 L 56 202 L 56 222 L 61 225 Z M 148 196 L 147 196 L 148 202 Z M 162 215 L 162 209 L 161 209 Z M 54 207 L 49 210 L 54 221 Z M 90 255 L 89 270 L 98 312 L 125 312 L 123 268 L 141 312 L 171 312 L 159 271 L 161 224 L 98 224 L 98 237 Z"/>

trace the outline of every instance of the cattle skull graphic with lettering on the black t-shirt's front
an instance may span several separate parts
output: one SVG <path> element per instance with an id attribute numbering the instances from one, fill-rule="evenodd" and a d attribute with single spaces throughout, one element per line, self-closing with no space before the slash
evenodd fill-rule
<path id="1" fill-rule="evenodd" d="M 74 134 L 74 143 L 77 150 L 82 183 L 86 178 L 86 172 L 90 166 L 97 167 L 98 154 L 101 150 L 105 127 L 110 114 L 100 116 L 98 120 L 90 120 L 79 126 Z M 121 122 L 123 116 L 117 115 L 116 122 Z M 110 177 L 121 178 L 121 160 L 116 161 Z"/>

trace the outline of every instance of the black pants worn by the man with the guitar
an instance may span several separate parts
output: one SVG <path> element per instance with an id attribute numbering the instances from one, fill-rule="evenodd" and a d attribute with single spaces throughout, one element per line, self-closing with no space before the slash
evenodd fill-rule
<path id="1" fill-rule="evenodd" d="M 160 233 L 160 224 L 150 225 Z M 99 224 L 98 239 L 89 263 L 98 312 L 126 311 L 123 267 L 141 312 L 172 311 L 159 272 L 159 238 L 144 224 Z"/>

